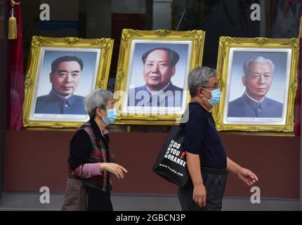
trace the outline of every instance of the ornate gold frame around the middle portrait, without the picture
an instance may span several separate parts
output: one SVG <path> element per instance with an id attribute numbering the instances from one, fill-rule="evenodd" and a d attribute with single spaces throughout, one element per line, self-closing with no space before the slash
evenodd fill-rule
<path id="1" fill-rule="evenodd" d="M 121 45 L 119 48 L 119 60 L 117 65 L 117 77 L 115 82 L 114 94 L 119 91 L 126 91 L 129 62 L 131 61 L 131 44 L 134 40 L 146 41 L 192 41 L 192 50 L 190 55 L 190 70 L 202 65 L 202 54 L 204 50 L 205 32 L 202 30 L 191 31 L 172 31 L 172 30 L 131 30 L 122 31 Z M 173 44 L 173 43 L 171 43 Z M 142 72 L 143 75 L 143 72 Z M 184 91 L 186 91 L 184 89 Z M 124 99 L 126 94 L 114 96 L 119 115 L 114 124 L 145 124 L 145 125 L 171 125 L 176 124 L 181 115 L 129 115 L 122 113 L 124 108 Z M 185 99 L 186 103 L 190 101 L 190 95 Z M 117 104 L 118 103 L 118 104 Z"/>

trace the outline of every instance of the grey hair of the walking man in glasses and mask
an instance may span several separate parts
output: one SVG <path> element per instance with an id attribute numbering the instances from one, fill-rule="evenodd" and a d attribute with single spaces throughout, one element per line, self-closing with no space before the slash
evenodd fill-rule
<path id="1" fill-rule="evenodd" d="M 197 95 L 197 89 L 200 86 L 208 86 L 209 78 L 217 75 L 217 71 L 206 66 L 197 67 L 188 75 L 188 86 L 191 98 Z"/>

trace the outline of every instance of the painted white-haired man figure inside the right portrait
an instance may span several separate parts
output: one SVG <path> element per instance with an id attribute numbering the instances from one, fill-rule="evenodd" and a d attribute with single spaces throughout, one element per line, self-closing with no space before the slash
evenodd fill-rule
<path id="1" fill-rule="evenodd" d="M 283 104 L 265 95 L 273 82 L 275 65 L 268 58 L 251 58 L 244 63 L 242 84 L 246 91 L 228 105 L 228 117 L 282 117 Z"/>

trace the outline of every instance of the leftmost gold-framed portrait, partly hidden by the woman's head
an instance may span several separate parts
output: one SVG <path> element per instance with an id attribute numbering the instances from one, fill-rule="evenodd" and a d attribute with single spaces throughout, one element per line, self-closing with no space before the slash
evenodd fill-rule
<path id="1" fill-rule="evenodd" d="M 89 120 L 84 96 L 107 88 L 112 39 L 32 37 L 24 127 L 72 128 Z"/>

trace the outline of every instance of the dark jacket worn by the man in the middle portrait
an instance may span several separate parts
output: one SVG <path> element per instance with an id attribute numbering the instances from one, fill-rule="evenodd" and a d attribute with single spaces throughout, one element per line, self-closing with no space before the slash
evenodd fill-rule
<path id="1" fill-rule="evenodd" d="M 157 94 L 152 94 L 145 84 L 130 89 L 128 100 L 129 106 L 181 107 L 183 89 L 170 82 L 165 89 L 158 91 Z"/>

